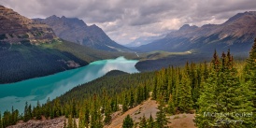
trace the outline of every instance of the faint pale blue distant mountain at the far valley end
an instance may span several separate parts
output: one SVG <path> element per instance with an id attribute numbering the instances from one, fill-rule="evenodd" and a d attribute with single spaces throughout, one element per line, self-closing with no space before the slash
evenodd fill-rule
<path id="1" fill-rule="evenodd" d="M 155 40 L 164 38 L 165 35 L 162 36 L 140 36 L 136 38 L 133 42 L 124 45 L 125 47 L 128 48 L 135 48 L 135 47 L 140 47 L 142 45 L 147 45 Z"/>

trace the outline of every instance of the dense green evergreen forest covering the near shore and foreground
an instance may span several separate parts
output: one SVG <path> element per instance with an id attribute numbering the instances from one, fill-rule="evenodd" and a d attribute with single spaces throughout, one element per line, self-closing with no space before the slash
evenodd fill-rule
<path id="1" fill-rule="evenodd" d="M 50 119 L 65 116 L 68 128 L 100 128 L 111 122 L 111 113 L 125 112 L 149 97 L 159 103 L 159 111 L 155 120 L 142 118 L 142 128 L 163 128 L 166 114 L 178 113 L 195 113 L 199 128 L 255 128 L 256 39 L 246 62 L 235 63 L 230 50 L 220 56 L 215 50 L 209 63 L 188 62 L 184 67 L 131 75 L 110 73 L 46 104 L 31 107 L 27 103 L 22 115 L 14 109 L 5 111 L 0 128 L 20 120 L 40 120 L 42 115 Z M 74 119 L 79 119 L 78 125 Z M 122 127 L 134 126 L 128 115 Z"/>

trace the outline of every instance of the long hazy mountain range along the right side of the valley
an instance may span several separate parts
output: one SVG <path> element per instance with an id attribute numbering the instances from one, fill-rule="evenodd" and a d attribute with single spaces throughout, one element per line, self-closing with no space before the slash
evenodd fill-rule
<path id="1" fill-rule="evenodd" d="M 162 39 L 143 45 L 138 50 L 186 51 L 214 49 L 247 52 L 256 37 L 256 11 L 238 13 L 222 24 L 202 27 L 185 24 Z"/>

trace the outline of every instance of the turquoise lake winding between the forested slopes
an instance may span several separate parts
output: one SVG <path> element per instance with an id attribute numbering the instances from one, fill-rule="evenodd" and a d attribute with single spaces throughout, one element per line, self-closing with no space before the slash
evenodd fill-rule
<path id="1" fill-rule="evenodd" d="M 61 73 L 41 78 L 31 78 L 16 83 L 0 84 L 0 111 L 10 110 L 13 106 L 23 113 L 25 102 L 36 106 L 37 101 L 46 103 L 79 84 L 104 76 L 111 70 L 121 70 L 128 73 L 138 72 L 135 64 L 138 61 L 126 60 L 123 57 L 93 62 L 86 66 L 67 70 Z"/>

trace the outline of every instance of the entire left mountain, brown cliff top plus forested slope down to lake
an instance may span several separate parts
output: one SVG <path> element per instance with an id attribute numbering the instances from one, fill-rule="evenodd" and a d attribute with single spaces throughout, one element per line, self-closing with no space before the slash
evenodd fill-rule
<path id="1" fill-rule="evenodd" d="M 0 6 L 0 22 L 0 83 L 47 76 L 93 61 L 131 55 L 94 50 L 59 39 L 47 24 L 3 6 Z"/>

